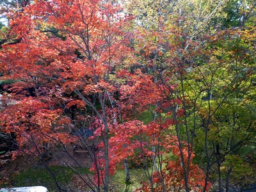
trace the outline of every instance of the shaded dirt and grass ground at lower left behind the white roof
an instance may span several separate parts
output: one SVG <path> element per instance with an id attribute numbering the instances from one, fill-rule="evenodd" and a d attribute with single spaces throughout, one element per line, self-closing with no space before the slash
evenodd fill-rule
<path id="1" fill-rule="evenodd" d="M 46 163 L 56 176 L 61 188 L 68 189 L 68 183 L 75 191 L 76 189 L 83 191 L 82 189 L 85 189 L 86 185 L 67 166 L 90 168 L 92 161 L 87 153 L 74 154 L 72 145 L 69 144 L 66 148 L 67 152 L 52 152 L 52 159 Z M 78 168 L 78 170 L 81 171 L 82 168 Z M 83 169 L 82 172 L 86 172 L 86 170 L 88 169 Z M 28 155 L 19 156 L 15 161 L 0 164 L 0 188 L 20 186 L 45 186 L 49 191 L 58 191 L 52 175 L 45 169 L 44 163 L 34 156 Z"/>

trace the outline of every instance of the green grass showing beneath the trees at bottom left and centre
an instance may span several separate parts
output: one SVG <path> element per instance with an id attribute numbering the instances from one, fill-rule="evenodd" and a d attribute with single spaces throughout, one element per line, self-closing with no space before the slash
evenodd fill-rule
<path id="1" fill-rule="evenodd" d="M 51 172 L 56 176 L 58 184 L 61 188 L 67 189 L 67 181 L 70 182 L 74 172 L 63 166 L 51 166 Z M 81 168 L 79 168 L 81 169 Z M 81 170 L 79 170 L 81 171 Z M 83 170 L 84 171 L 84 170 Z M 85 170 L 87 173 L 88 169 Z M 125 171 L 118 170 L 115 175 L 111 176 L 110 189 L 112 192 L 131 192 L 141 187 L 141 182 L 147 180 L 143 170 L 140 168 L 132 168 L 130 170 L 130 183 L 129 186 L 125 184 Z M 49 173 L 44 167 L 37 166 L 35 168 L 28 168 L 23 172 L 17 173 L 12 177 L 12 187 L 24 187 L 24 186 L 44 186 L 49 192 L 58 191 L 51 173 Z M 127 191 L 125 191 L 127 189 Z"/>

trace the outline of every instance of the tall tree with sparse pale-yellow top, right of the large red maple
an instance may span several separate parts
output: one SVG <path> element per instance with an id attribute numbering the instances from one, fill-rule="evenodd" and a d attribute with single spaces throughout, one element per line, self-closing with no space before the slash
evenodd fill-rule
<path id="1" fill-rule="evenodd" d="M 224 12 L 230 6 L 228 1 L 214 3 L 210 1 L 193 1 L 191 3 L 172 1 L 172 3 L 171 6 L 168 4 L 169 7 L 156 1 L 141 2 L 138 7 L 134 6 L 134 3 L 127 4 L 128 10 L 129 7 L 135 8 L 134 11 L 131 9 L 131 12 L 138 19 L 136 22 L 138 29 L 134 33 L 133 39 L 136 42 L 134 48 L 138 51 L 138 60 L 141 62 L 138 67 L 144 70 L 145 73 L 152 75 L 154 83 L 162 88 L 162 95 L 168 100 L 167 106 L 172 111 L 168 115 L 174 122 L 172 134 L 175 134 L 179 140 L 180 155 L 183 153 L 182 141 L 188 143 L 188 150 L 186 151 L 186 153 L 188 152 L 188 161 L 192 160 L 193 148 L 197 142 L 195 140 L 197 140 L 198 132 L 201 132 L 199 127 L 205 127 L 206 123 L 207 128 L 204 131 L 204 138 L 200 138 L 200 141 L 205 142 L 201 145 L 205 146 L 204 152 L 207 159 L 204 185 L 204 190 L 206 190 L 212 157 L 212 154 L 209 154 L 212 152 L 211 150 L 209 152 L 212 143 L 210 142 L 211 145 L 208 143 L 210 140 L 209 130 L 211 130 L 209 125 L 212 123 L 212 118 L 215 113 L 223 109 L 222 106 L 226 105 L 226 100 L 229 100 L 232 97 L 231 95 L 243 92 L 243 86 L 246 86 L 249 90 L 253 88 L 250 83 L 253 74 L 255 74 L 255 68 L 252 67 L 254 65 L 252 64 L 254 61 L 252 51 L 253 27 L 246 29 L 245 33 L 230 29 L 218 31 L 219 27 L 223 28 L 220 18 L 230 17 L 228 14 L 225 15 L 227 12 Z M 253 10 L 253 6 L 249 6 L 249 4 L 246 10 Z M 253 18 L 252 12 L 248 12 L 248 15 L 250 15 L 248 18 Z M 239 35 L 237 36 L 237 34 Z M 243 37 L 239 38 L 240 35 Z M 227 38 L 230 38 L 230 40 L 227 40 Z M 248 42 L 244 38 L 247 40 L 252 38 L 252 42 Z M 215 44 L 215 40 L 217 44 Z M 213 49 L 216 45 L 221 48 Z M 233 47 L 233 52 L 228 52 L 229 47 L 226 47 L 226 45 Z M 236 46 L 239 48 L 235 48 Z M 219 49 L 221 52 L 217 51 Z M 234 52 L 237 49 L 244 50 L 247 55 L 245 56 L 241 52 L 241 54 L 236 54 L 236 57 L 234 57 L 236 60 L 228 59 L 230 55 L 235 55 Z M 225 57 L 224 55 L 229 56 Z M 244 58 L 246 59 L 244 60 Z M 236 67 L 230 68 L 231 63 L 236 63 L 239 69 Z M 242 66 L 250 68 L 249 74 L 243 73 Z M 243 68 L 244 71 L 245 68 Z M 227 81 L 227 79 L 230 80 Z M 234 86 L 235 81 L 236 86 Z M 244 94 L 250 92 L 244 92 Z M 220 94 L 220 97 L 217 99 L 218 94 Z M 182 118 L 177 116 L 179 109 L 184 110 Z M 200 115 L 203 111 L 204 113 L 207 111 L 207 120 Z M 251 120 L 253 121 L 253 118 Z M 248 124 L 249 127 L 251 125 Z M 253 132 L 253 129 L 251 131 Z M 249 135 L 252 133 L 251 131 L 248 132 Z M 248 134 L 244 135 L 244 139 L 247 138 Z M 241 147 L 241 145 L 244 145 L 243 142 L 248 141 L 244 139 L 236 138 L 236 147 Z M 250 143 L 250 141 L 248 142 Z M 229 139 L 228 142 L 230 142 Z M 233 144 L 232 146 L 234 147 Z M 184 162 L 182 162 L 182 166 L 185 172 L 184 180 L 188 184 L 189 166 L 185 166 Z M 220 183 L 221 178 L 219 180 L 219 190 L 222 188 Z M 186 190 L 189 191 L 188 185 Z"/>

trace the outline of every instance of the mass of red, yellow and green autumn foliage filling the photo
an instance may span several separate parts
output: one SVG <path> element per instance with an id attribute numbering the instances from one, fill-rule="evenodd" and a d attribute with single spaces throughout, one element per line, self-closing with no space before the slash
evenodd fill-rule
<path id="1" fill-rule="evenodd" d="M 1 10 L 0 130 L 13 159 L 79 141 L 92 191 L 109 191 L 120 167 L 127 185 L 129 168 L 144 170 L 138 191 L 255 180 L 253 1 L 22 0 Z M 84 127 L 90 139 L 70 134 Z"/>

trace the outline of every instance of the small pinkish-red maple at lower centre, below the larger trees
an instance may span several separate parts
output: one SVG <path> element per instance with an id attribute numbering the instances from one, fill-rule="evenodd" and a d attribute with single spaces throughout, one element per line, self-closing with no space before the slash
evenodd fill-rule
<path id="1" fill-rule="evenodd" d="M 138 70 L 136 75 L 130 76 L 129 84 L 122 86 L 121 94 L 125 99 L 125 111 L 129 114 L 133 111 L 136 115 L 132 115 L 130 118 L 137 120 L 129 120 L 111 130 L 114 136 L 110 139 L 110 143 L 112 143 L 110 151 L 115 154 L 113 157 L 116 157 L 113 158 L 113 162 L 120 163 L 123 159 L 128 159 L 130 163 L 136 162 L 139 167 L 141 166 L 149 180 L 149 184 L 147 182 L 143 184 L 142 191 L 180 191 L 184 189 L 184 170 L 180 164 L 188 165 L 189 163 L 191 172 L 187 183 L 188 188 L 202 189 L 204 173 L 198 166 L 188 162 L 188 144 L 182 142 L 179 146 L 177 136 L 173 136 L 173 133 L 170 132 L 169 127 L 173 125 L 173 120 L 164 116 L 168 102 L 161 95 L 161 85 L 153 83 L 152 79 L 149 79 L 150 76 L 148 79 L 147 76 Z M 127 97 L 128 95 L 129 97 Z M 177 101 L 179 102 L 179 100 Z M 156 103 L 158 103 L 157 109 L 155 108 Z M 143 111 L 150 112 L 150 108 L 153 111 L 156 110 L 159 115 L 154 119 L 154 111 L 152 122 L 145 125 L 138 119 Z M 177 111 L 178 116 L 184 115 L 182 109 Z M 160 115 L 161 113 L 162 115 Z M 184 153 L 180 154 L 179 147 Z M 180 157 L 182 155 L 183 157 Z M 210 184 L 207 188 L 209 186 Z"/>

